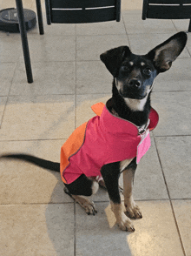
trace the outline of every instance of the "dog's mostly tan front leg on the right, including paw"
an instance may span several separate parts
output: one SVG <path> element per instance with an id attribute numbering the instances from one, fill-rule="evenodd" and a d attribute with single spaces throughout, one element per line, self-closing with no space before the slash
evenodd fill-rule
<path id="1" fill-rule="evenodd" d="M 134 160 L 123 171 L 124 204 L 127 211 L 126 214 L 131 219 L 142 218 L 142 212 L 138 205 L 135 204 L 132 194 L 136 166 L 136 158 L 134 158 Z"/>

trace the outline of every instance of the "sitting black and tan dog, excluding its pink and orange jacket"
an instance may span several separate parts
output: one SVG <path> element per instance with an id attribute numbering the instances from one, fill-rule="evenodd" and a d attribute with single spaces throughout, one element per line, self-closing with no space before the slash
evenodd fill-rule
<path id="1" fill-rule="evenodd" d="M 159 73 L 169 70 L 172 62 L 181 54 L 186 43 L 187 34 L 179 32 L 146 55 L 135 55 L 128 46 L 121 46 L 102 53 L 101 60 L 114 77 L 113 95 L 109 99 L 109 111 L 137 127 L 142 128 L 148 124 L 148 115 L 151 110 L 150 94 L 155 77 Z M 52 171 L 60 171 L 59 163 L 25 154 L 7 154 L 1 158 L 20 158 Z M 100 170 L 109 192 L 116 223 L 125 231 L 135 231 L 129 218 L 142 218 L 142 213 L 132 196 L 136 166 L 136 158 L 130 158 L 103 165 Z M 127 212 L 123 212 L 119 192 L 118 179 L 121 173 L 123 173 L 124 205 Z M 97 191 L 98 184 L 94 179 L 89 179 L 82 174 L 74 182 L 65 186 L 69 195 L 82 205 L 87 213 L 96 213 L 94 203 L 85 197 Z"/>

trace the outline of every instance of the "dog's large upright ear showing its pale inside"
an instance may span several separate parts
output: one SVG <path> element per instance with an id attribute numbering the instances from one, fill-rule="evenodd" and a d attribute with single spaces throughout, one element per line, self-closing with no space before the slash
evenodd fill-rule
<path id="1" fill-rule="evenodd" d="M 187 34 L 179 32 L 149 51 L 148 57 L 153 60 L 158 72 L 168 71 L 172 62 L 181 54 L 186 44 Z"/>

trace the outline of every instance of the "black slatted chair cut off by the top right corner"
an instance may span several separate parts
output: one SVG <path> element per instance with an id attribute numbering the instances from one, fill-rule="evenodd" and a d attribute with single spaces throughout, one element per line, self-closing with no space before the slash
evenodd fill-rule
<path id="1" fill-rule="evenodd" d="M 146 18 L 190 19 L 191 32 L 191 0 L 143 0 L 142 19 Z"/>

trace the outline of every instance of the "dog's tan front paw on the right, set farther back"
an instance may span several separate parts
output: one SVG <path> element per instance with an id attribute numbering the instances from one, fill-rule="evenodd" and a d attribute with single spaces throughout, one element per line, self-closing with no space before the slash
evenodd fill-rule
<path id="1" fill-rule="evenodd" d="M 142 219 L 142 212 L 138 205 L 135 204 L 134 199 L 125 200 L 125 214 L 131 219 Z"/>

